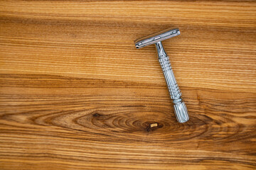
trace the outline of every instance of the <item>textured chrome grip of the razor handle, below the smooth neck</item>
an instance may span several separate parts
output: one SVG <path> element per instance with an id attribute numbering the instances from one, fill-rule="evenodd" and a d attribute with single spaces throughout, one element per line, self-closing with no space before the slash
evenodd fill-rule
<path id="1" fill-rule="evenodd" d="M 174 72 L 171 69 L 171 63 L 169 62 L 168 55 L 159 57 L 161 68 L 164 72 L 164 78 L 169 89 L 169 94 L 174 103 L 174 113 L 179 123 L 185 123 L 188 121 L 188 110 L 185 103 L 181 98 L 181 90 L 178 88 L 178 84 L 174 77 Z"/>

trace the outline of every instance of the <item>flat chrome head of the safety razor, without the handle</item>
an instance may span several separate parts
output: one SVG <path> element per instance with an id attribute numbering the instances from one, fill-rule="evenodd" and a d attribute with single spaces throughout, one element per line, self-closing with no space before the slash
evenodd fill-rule
<path id="1" fill-rule="evenodd" d="M 178 28 L 169 28 L 167 30 L 162 30 L 161 32 L 148 35 L 144 38 L 139 38 L 138 40 L 135 41 L 135 47 L 136 48 L 145 47 L 146 45 L 155 44 L 156 42 L 166 40 L 168 38 L 173 38 L 180 34 L 181 33 L 178 30 Z"/>

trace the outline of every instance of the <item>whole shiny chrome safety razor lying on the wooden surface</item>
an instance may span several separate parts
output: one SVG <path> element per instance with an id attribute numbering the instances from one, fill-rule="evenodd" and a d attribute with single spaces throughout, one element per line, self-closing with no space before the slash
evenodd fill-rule
<path id="1" fill-rule="evenodd" d="M 168 38 L 173 38 L 180 34 L 181 33 L 178 30 L 178 28 L 163 30 L 159 33 L 154 33 L 144 38 L 139 38 L 138 40 L 135 41 L 135 46 L 137 48 L 141 48 L 151 44 L 156 45 L 158 59 L 164 73 L 164 78 L 166 80 L 166 84 L 169 89 L 169 94 L 174 103 L 174 113 L 179 123 L 185 123 L 186 121 L 189 120 L 188 110 L 181 98 L 181 90 L 179 89 L 176 79 L 174 77 L 174 72 L 171 68 L 169 56 L 166 54 L 164 47 L 161 43 L 161 41 L 163 40 L 166 40 Z"/>

